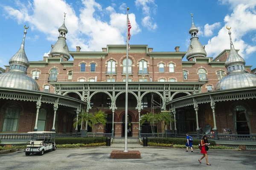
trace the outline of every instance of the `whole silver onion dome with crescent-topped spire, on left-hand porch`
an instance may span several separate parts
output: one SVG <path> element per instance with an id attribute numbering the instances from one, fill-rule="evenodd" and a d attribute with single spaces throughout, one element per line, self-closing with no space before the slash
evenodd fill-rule
<path id="1" fill-rule="evenodd" d="M 19 51 L 9 60 L 10 68 L 7 73 L 0 74 L 0 87 L 6 88 L 20 88 L 26 90 L 39 91 L 39 85 L 34 79 L 28 77 L 26 74 L 29 67 L 29 60 L 26 57 L 24 50 L 26 26 L 24 26 L 24 37 Z"/>

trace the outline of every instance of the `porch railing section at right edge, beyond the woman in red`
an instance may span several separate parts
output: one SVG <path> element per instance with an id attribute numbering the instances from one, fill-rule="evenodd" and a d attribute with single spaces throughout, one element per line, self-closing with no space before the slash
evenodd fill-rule
<path id="1" fill-rule="evenodd" d="M 218 134 L 218 140 L 256 141 L 256 134 L 254 135 Z"/>

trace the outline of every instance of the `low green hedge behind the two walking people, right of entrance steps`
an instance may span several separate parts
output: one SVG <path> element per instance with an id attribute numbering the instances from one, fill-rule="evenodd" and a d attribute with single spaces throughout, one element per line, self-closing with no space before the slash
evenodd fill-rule
<path id="1" fill-rule="evenodd" d="M 182 138 L 148 138 L 148 142 L 153 143 L 165 143 L 165 144 L 181 144 L 185 145 L 187 142 L 187 139 Z M 194 139 L 193 140 L 193 146 L 198 145 L 200 140 Z M 211 143 L 212 146 L 215 146 L 215 141 L 208 140 L 209 143 Z"/>

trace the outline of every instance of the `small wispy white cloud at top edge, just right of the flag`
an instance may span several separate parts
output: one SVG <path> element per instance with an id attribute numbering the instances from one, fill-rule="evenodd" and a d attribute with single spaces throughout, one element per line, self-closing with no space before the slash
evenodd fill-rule
<path id="1" fill-rule="evenodd" d="M 142 18 L 142 25 L 147 27 L 149 31 L 154 31 L 157 28 L 157 23 L 153 23 L 151 12 L 156 14 L 157 5 L 154 0 L 135 0 L 135 6 L 142 8 L 145 17 Z"/>

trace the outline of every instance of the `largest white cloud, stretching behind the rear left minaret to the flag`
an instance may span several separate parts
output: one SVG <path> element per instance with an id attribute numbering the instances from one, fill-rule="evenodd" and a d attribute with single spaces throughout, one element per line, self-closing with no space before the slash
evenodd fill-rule
<path id="1" fill-rule="evenodd" d="M 79 15 L 63 0 L 34 0 L 28 4 L 25 6 L 16 1 L 17 8 L 3 6 L 6 18 L 13 18 L 19 24 L 27 23 L 32 30 L 46 34 L 52 43 L 58 40 L 58 28 L 63 23 L 63 13 L 67 12 L 65 25 L 69 31 L 67 42 L 70 50 L 80 46 L 81 51 L 101 51 L 107 44 L 125 44 L 126 27 L 122 28 L 126 25 L 126 15 L 116 13 L 114 4 L 105 9 L 109 13 L 109 23 L 102 20 L 102 6 L 95 0 L 81 0 Z M 130 20 L 131 34 L 139 33 L 135 14 L 130 14 Z"/>

